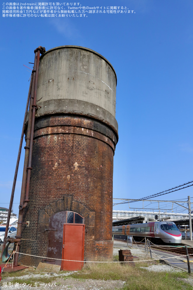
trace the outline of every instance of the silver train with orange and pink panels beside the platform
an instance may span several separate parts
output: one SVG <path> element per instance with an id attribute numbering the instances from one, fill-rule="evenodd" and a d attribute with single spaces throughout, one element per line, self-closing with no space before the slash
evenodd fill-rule
<path id="1" fill-rule="evenodd" d="M 149 240 L 161 239 L 164 243 L 180 244 L 182 234 L 172 221 L 155 221 L 147 224 L 113 226 L 113 235 L 146 237 Z"/>

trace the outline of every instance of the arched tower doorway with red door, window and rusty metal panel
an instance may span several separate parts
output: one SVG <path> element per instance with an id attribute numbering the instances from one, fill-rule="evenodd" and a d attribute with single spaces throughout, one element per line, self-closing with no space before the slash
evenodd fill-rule
<path id="1" fill-rule="evenodd" d="M 85 224 L 84 218 L 73 211 L 58 211 L 49 218 L 47 257 L 48 263 L 61 265 L 62 270 L 78 270 L 84 261 Z M 51 260 L 51 261 L 50 261 Z"/>

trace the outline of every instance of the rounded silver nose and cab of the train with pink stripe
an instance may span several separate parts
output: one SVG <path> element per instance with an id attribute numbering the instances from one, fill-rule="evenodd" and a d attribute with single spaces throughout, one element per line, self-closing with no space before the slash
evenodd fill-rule
<path id="1" fill-rule="evenodd" d="M 164 243 L 180 244 L 182 234 L 172 221 L 155 222 L 155 237 L 161 238 Z"/>

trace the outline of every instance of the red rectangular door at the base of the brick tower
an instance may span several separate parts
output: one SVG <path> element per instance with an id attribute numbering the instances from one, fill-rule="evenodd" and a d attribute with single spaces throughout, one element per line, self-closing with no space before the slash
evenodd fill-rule
<path id="1" fill-rule="evenodd" d="M 61 270 L 77 271 L 84 265 L 85 225 L 64 224 Z M 82 261 L 82 262 L 76 262 Z"/>

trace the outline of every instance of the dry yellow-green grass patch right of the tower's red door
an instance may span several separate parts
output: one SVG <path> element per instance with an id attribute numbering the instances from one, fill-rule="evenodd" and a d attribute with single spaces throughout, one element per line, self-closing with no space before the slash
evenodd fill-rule
<path id="1" fill-rule="evenodd" d="M 186 272 L 149 272 L 140 267 L 147 263 L 136 263 L 135 267 L 118 263 L 87 264 L 81 271 L 70 275 L 77 279 L 104 279 L 126 281 L 124 290 L 192 290 L 192 286 L 180 278 L 188 278 Z M 177 279 L 178 278 L 178 279 Z"/>

